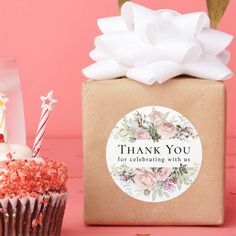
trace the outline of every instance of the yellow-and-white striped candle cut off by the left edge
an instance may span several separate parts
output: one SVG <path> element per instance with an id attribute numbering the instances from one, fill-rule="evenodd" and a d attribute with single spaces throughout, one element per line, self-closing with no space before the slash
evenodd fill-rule
<path id="1" fill-rule="evenodd" d="M 5 142 L 7 142 L 6 103 L 8 100 L 3 93 L 0 93 L 0 134 L 3 135 Z"/>

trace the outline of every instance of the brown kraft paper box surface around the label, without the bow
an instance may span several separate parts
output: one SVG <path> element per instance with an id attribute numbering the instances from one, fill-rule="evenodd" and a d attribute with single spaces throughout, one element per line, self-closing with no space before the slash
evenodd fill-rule
<path id="1" fill-rule="evenodd" d="M 177 78 L 148 86 L 126 78 L 88 81 L 82 95 L 87 224 L 224 222 L 226 107 L 222 82 Z M 147 106 L 168 107 L 187 117 L 202 144 L 202 164 L 195 181 L 179 196 L 163 202 L 140 201 L 126 194 L 113 181 L 106 161 L 108 138 L 117 122 L 130 111 Z"/>

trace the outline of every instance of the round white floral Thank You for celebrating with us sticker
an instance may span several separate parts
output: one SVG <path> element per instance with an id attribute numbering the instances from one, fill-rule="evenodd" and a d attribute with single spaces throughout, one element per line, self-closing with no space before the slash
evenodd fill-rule
<path id="1" fill-rule="evenodd" d="M 106 148 L 109 173 L 129 196 L 163 202 L 185 192 L 196 179 L 202 145 L 191 122 L 160 106 L 136 109 L 113 128 Z"/>

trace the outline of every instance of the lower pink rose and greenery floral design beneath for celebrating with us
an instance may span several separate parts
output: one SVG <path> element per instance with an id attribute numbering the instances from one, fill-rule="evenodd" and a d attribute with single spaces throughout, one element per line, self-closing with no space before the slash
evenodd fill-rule
<path id="1" fill-rule="evenodd" d="M 171 199 L 175 191 L 181 191 L 194 181 L 198 165 L 187 167 L 130 168 L 123 164 L 113 166 L 112 176 L 122 189 L 135 198 L 149 201 Z"/>

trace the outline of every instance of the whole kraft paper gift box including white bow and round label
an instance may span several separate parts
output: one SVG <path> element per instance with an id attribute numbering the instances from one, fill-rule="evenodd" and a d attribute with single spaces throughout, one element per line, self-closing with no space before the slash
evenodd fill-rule
<path id="1" fill-rule="evenodd" d="M 85 222 L 223 224 L 232 36 L 204 12 L 131 2 L 98 26 L 82 71 Z"/>

